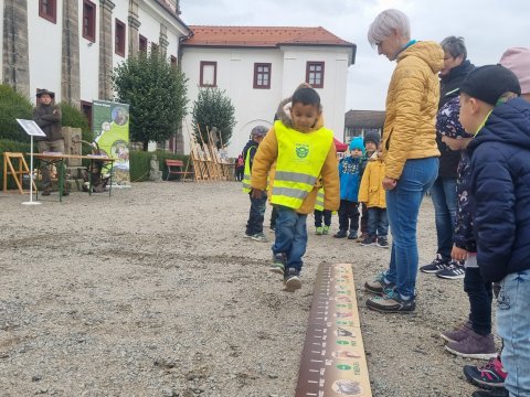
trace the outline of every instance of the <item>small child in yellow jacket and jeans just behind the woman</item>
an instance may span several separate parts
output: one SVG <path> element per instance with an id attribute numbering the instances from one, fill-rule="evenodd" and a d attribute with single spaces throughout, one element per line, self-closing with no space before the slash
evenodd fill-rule
<path id="1" fill-rule="evenodd" d="M 386 239 L 389 234 L 386 192 L 383 189 L 384 162 L 381 158 L 380 147 L 370 157 L 359 187 L 359 202 L 368 207 L 368 235 L 360 243 L 362 246 L 377 245 L 381 248 L 389 248 Z"/>

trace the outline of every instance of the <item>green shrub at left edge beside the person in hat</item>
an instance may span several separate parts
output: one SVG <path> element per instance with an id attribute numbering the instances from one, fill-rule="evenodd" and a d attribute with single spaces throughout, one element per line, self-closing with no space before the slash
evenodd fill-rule
<path id="1" fill-rule="evenodd" d="M 33 106 L 23 95 L 8 85 L 0 84 L 0 139 L 29 142 L 25 133 L 15 119 L 32 119 Z"/>

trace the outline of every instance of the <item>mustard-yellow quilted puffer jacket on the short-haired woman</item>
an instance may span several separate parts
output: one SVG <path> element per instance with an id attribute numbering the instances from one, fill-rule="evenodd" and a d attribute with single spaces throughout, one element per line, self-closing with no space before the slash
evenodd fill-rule
<path id="1" fill-rule="evenodd" d="M 436 146 L 438 72 L 444 51 L 435 42 L 417 42 L 398 55 L 386 96 L 383 159 L 386 176 L 399 180 L 410 159 L 439 157 Z"/>

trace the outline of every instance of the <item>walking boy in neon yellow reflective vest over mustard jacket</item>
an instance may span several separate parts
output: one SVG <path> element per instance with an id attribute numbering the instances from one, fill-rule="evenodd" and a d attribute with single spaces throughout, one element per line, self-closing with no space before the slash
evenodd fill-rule
<path id="1" fill-rule="evenodd" d="M 320 97 L 308 87 L 293 94 L 278 109 L 279 119 L 259 144 L 252 169 L 252 195 L 261 196 L 274 162 L 271 202 L 277 206 L 272 271 L 284 275 L 287 291 L 301 288 L 300 270 L 307 246 L 307 214 L 315 208 L 321 176 L 324 207 L 339 207 L 339 174 L 333 132 L 324 127 Z"/>

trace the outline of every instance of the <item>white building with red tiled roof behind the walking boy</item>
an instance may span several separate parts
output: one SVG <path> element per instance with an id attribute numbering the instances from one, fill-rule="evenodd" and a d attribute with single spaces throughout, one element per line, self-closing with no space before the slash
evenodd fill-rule
<path id="1" fill-rule="evenodd" d="M 241 152 L 253 127 L 272 125 L 279 101 L 304 82 L 317 89 L 326 126 L 342 139 L 347 73 L 354 62 L 354 44 L 322 28 L 190 29 L 193 34 L 181 43 L 188 96 L 191 103 L 195 100 L 200 86 L 226 92 L 237 122 L 227 148 L 231 157 Z M 191 128 L 190 120 L 189 115 Z M 188 142 L 186 125 L 183 136 Z"/>

